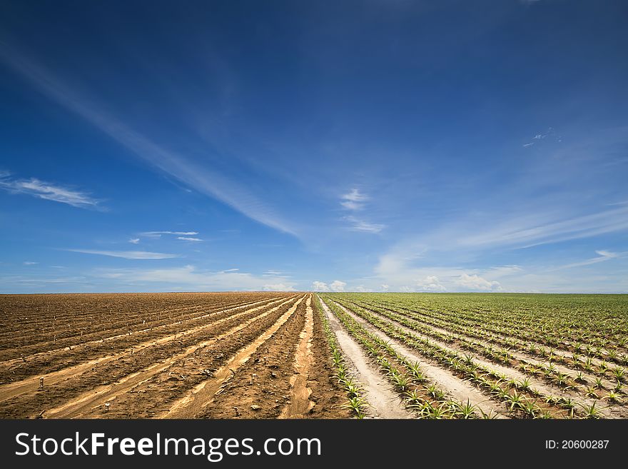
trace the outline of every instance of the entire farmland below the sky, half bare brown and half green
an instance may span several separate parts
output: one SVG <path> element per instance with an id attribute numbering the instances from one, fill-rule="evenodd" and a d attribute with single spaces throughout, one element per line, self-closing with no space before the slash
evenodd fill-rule
<path id="1" fill-rule="evenodd" d="M 1 418 L 628 418 L 628 296 L 0 296 Z"/>

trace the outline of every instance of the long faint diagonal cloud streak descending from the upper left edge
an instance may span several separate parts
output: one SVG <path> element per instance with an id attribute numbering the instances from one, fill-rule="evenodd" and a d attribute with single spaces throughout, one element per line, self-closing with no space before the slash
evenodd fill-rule
<path id="1" fill-rule="evenodd" d="M 28 79 L 41 93 L 78 114 L 154 168 L 158 168 L 201 193 L 217 198 L 248 218 L 278 231 L 296 235 L 289 223 L 250 193 L 248 188 L 134 131 L 122 121 L 107 114 L 92 101 L 78 94 L 72 86 L 65 84 L 49 69 L 27 59 L 26 54 L 21 51 L 0 43 L 0 60 Z"/>

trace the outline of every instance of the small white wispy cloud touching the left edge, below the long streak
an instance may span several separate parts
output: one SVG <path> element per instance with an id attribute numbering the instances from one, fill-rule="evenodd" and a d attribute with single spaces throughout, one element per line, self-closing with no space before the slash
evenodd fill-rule
<path id="1" fill-rule="evenodd" d="M 66 203 L 78 208 L 99 208 L 95 198 L 86 192 L 41 181 L 37 178 L 15 179 L 11 173 L 0 172 L 0 188 L 10 193 L 22 193 L 48 201 Z"/>

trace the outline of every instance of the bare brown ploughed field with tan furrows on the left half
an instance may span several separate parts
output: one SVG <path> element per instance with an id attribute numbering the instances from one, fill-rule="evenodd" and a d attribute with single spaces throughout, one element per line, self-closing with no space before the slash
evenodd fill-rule
<path id="1" fill-rule="evenodd" d="M 246 373 L 260 375 L 259 363 L 272 361 L 281 365 L 282 393 L 289 396 L 298 385 L 294 357 L 304 335 L 301 358 L 314 404 L 307 417 L 348 418 L 320 318 L 308 315 L 306 300 L 311 296 L 304 293 L 261 292 L 0 296 L 6 313 L 0 321 L 0 418 L 233 418 L 208 410 L 215 404 L 213 386 L 221 391 L 216 402 L 228 408 L 230 399 L 248 398 L 228 386 Z M 98 324 L 106 315 L 110 321 Z M 24 337 L 11 338 L 22 320 Z M 72 326 L 60 338 L 67 324 L 90 332 L 81 336 Z M 63 341 L 73 345 L 59 347 Z M 15 343 L 25 345 L 11 348 Z M 21 355 L 26 360 L 16 358 Z M 268 393 L 257 399 L 262 408 L 277 404 Z M 196 401 L 190 412 L 173 413 L 187 400 Z"/>

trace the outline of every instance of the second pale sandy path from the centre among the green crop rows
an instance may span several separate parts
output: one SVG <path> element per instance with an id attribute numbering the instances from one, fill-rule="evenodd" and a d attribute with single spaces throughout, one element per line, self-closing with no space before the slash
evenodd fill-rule
<path id="1" fill-rule="evenodd" d="M 427 362 L 421 355 L 417 355 L 404 344 L 390 338 L 386 333 L 380 331 L 380 329 L 376 328 L 368 321 L 365 321 L 365 319 L 360 318 L 360 316 L 353 313 L 353 311 L 348 310 L 340 303 L 335 304 L 342 308 L 343 311 L 345 311 L 345 313 L 347 313 L 351 318 L 355 319 L 355 321 L 358 321 L 358 323 L 360 323 L 360 325 L 366 328 L 369 332 L 383 338 L 385 341 L 389 341 L 395 350 L 402 353 L 402 355 L 405 355 L 410 360 L 419 363 L 425 377 L 432 381 L 432 383 L 438 385 L 443 391 L 445 391 L 446 394 L 450 395 L 455 400 L 463 404 L 467 403 L 468 400 L 471 405 L 474 405 L 475 408 L 482 410 L 482 412 L 487 415 L 494 415 L 497 416 L 497 418 L 510 418 L 507 415 L 505 406 L 495 403 L 490 399 L 490 397 L 482 394 L 465 380 L 457 378 L 457 376 L 453 375 L 444 368 L 440 368 L 440 366 L 434 363 Z"/>

